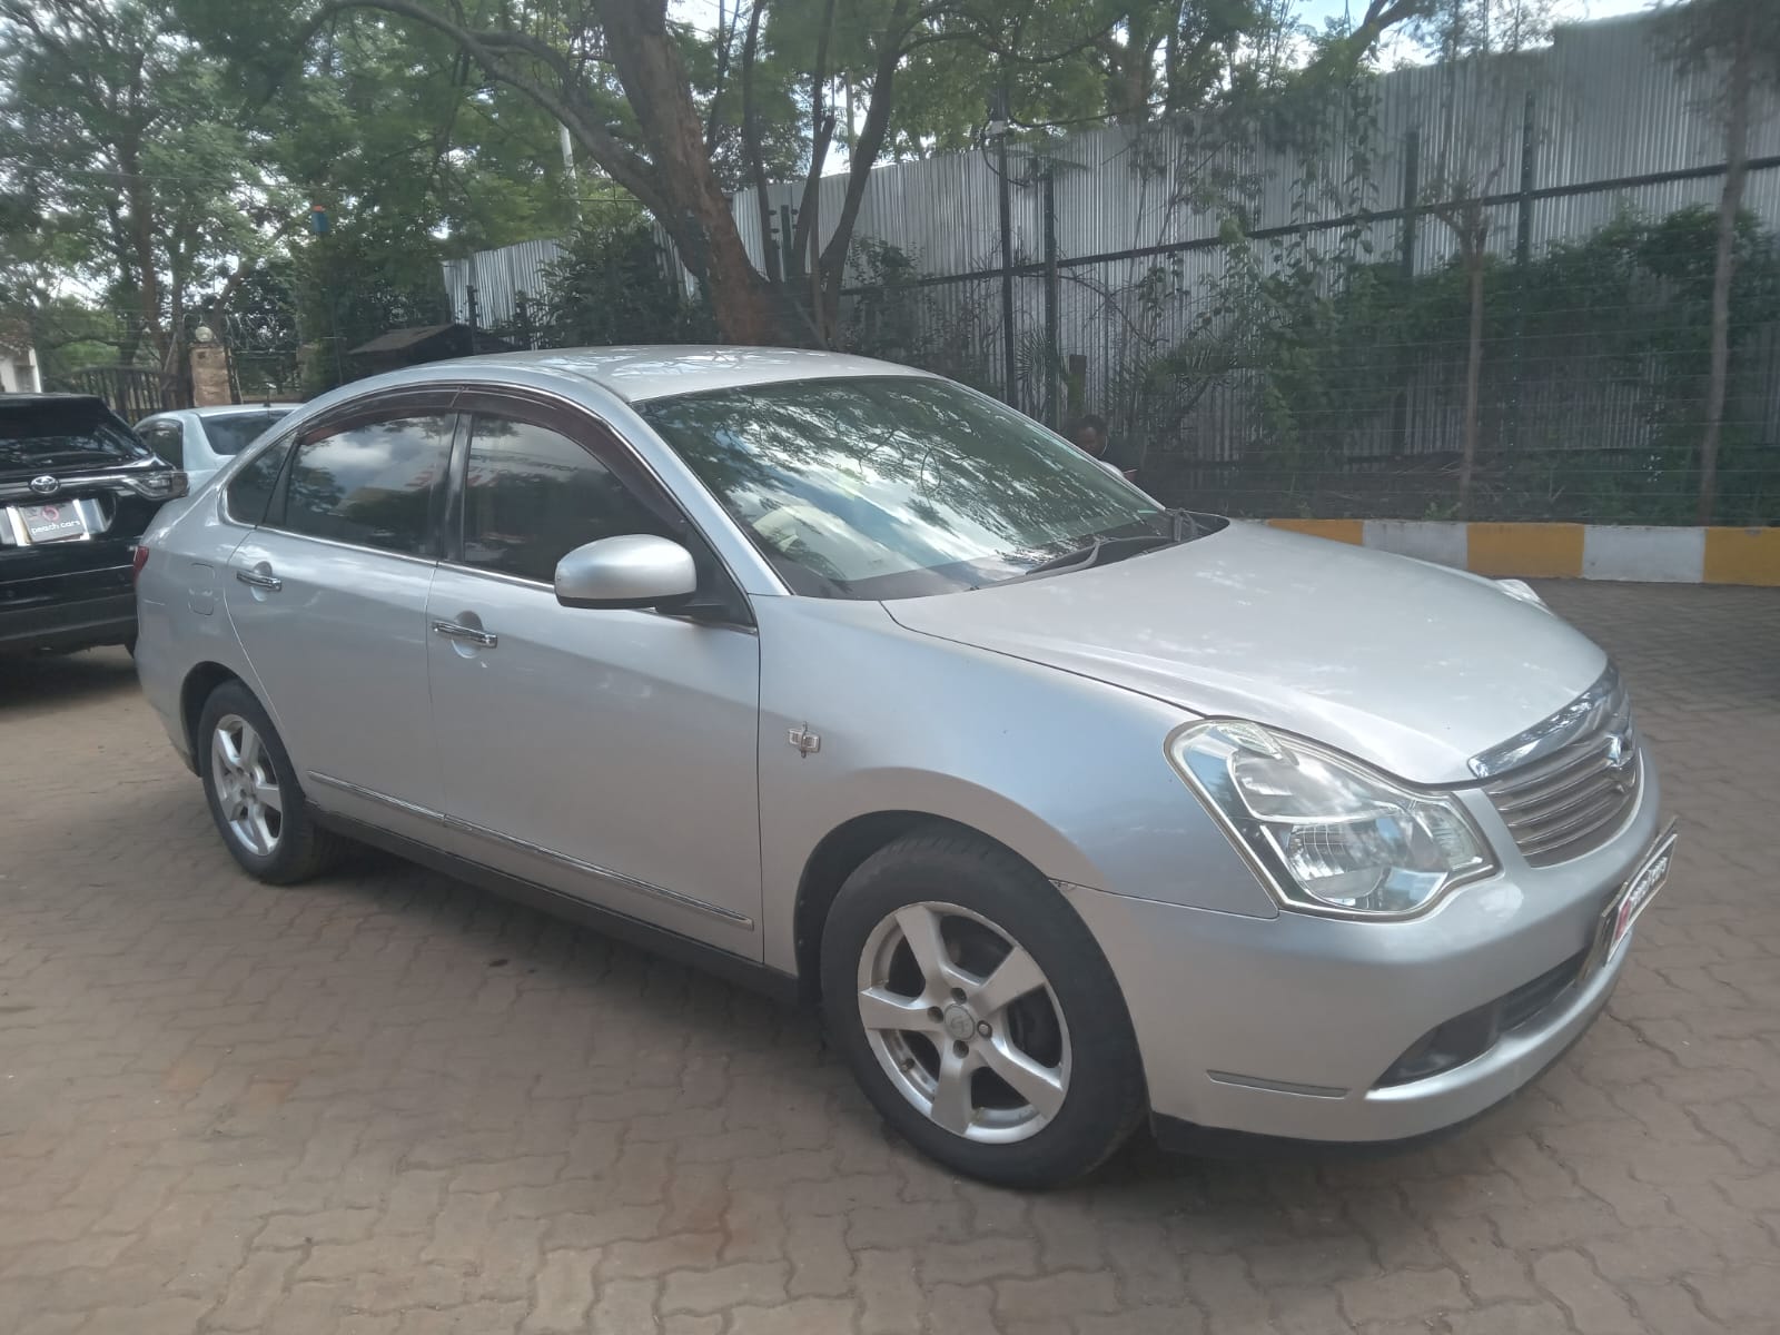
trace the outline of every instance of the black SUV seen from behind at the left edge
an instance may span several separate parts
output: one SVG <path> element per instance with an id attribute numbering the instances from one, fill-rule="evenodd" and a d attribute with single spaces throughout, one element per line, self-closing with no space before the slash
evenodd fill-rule
<path id="1" fill-rule="evenodd" d="M 135 541 L 185 473 L 103 399 L 0 393 L 0 653 L 135 643 Z"/>

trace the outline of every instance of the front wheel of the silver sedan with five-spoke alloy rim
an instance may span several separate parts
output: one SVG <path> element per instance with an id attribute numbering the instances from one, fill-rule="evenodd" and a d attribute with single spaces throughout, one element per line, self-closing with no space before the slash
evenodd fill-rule
<path id="1" fill-rule="evenodd" d="M 1095 940 L 1050 881 L 968 833 L 917 831 L 847 879 L 822 933 L 822 1006 L 885 1120 L 961 1173 L 1068 1182 L 1143 1112 Z"/>

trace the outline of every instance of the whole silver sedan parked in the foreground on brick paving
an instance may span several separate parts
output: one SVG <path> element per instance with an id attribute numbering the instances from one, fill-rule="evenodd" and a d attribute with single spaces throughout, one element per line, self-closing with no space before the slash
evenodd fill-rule
<path id="1" fill-rule="evenodd" d="M 801 993 L 1002 1184 L 1145 1118 L 1470 1118 L 1595 1018 L 1668 870 L 1625 691 L 1525 586 L 1166 509 L 858 358 L 363 381 L 137 587 L 249 874 L 363 840 Z"/>

